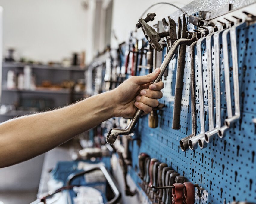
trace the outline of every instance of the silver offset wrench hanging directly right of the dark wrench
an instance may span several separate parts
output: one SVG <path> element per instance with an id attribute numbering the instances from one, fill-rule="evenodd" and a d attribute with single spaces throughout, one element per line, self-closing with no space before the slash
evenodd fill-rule
<path id="1" fill-rule="evenodd" d="M 211 26 L 209 26 L 211 27 Z M 212 28 L 212 27 L 211 27 Z M 200 38 L 196 43 L 197 56 L 198 56 L 198 85 L 199 85 L 199 106 L 200 106 L 200 127 L 201 131 L 195 137 L 189 139 L 189 149 L 194 150 L 197 148 L 198 140 L 204 137 L 205 133 L 205 123 L 204 123 L 204 88 L 203 88 L 203 66 L 202 66 L 202 52 L 201 46 L 202 42 L 205 39 Z"/>

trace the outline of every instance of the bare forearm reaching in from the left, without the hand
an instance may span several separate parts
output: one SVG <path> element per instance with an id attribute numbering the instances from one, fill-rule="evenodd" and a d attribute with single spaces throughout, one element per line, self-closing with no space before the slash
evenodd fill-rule
<path id="1" fill-rule="evenodd" d="M 111 92 L 0 124 L 0 167 L 42 154 L 114 116 Z"/>

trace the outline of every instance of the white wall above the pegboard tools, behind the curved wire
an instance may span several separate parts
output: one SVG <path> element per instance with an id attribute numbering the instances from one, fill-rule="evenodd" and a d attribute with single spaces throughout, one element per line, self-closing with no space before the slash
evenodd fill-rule
<path id="1" fill-rule="evenodd" d="M 112 16 L 112 30 L 115 31 L 118 38 L 118 42 L 111 37 L 111 46 L 117 47 L 117 45 L 123 41 L 127 41 L 130 35 L 130 31 L 134 30 L 136 23 L 139 20 L 141 14 L 151 6 L 157 3 L 155 0 L 113 0 L 113 16 Z M 189 4 L 193 0 L 183 0 L 183 1 L 170 1 L 165 0 L 164 2 L 175 4 L 179 7 L 183 7 Z M 156 13 L 155 20 L 149 22 L 149 25 L 156 24 L 158 20 L 162 20 L 163 16 L 168 16 L 175 12 L 177 9 L 175 7 L 160 4 L 149 9 L 147 13 Z M 145 18 L 146 16 L 143 16 Z M 176 19 L 175 19 L 176 20 Z M 138 29 L 138 32 L 142 32 Z"/>

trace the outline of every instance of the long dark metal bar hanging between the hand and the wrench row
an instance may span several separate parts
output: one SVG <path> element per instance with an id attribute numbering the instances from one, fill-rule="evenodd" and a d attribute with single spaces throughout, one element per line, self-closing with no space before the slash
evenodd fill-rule
<path id="1" fill-rule="evenodd" d="M 182 21 L 182 32 L 181 38 L 187 38 L 188 30 L 186 17 L 183 14 Z M 178 54 L 178 66 L 176 72 L 176 84 L 175 84 L 175 98 L 174 98 L 174 108 L 173 108 L 173 125 L 172 128 L 175 130 L 180 129 L 180 111 L 181 111 L 181 100 L 182 100 L 182 89 L 183 89 L 183 76 L 185 67 L 185 55 L 186 55 L 186 45 L 182 44 L 179 48 Z"/>

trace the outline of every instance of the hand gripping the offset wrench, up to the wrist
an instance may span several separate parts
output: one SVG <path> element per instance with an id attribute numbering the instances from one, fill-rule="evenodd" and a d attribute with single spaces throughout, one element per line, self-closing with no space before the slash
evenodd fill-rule
<path id="1" fill-rule="evenodd" d="M 151 84 L 151 82 L 158 77 L 159 73 L 160 69 L 157 68 L 145 76 L 132 76 L 115 88 L 113 90 L 115 117 L 131 118 L 137 108 L 145 115 L 150 113 L 152 108 L 157 107 L 158 99 L 163 96 L 160 90 L 164 88 L 164 83 L 160 81 Z"/>

